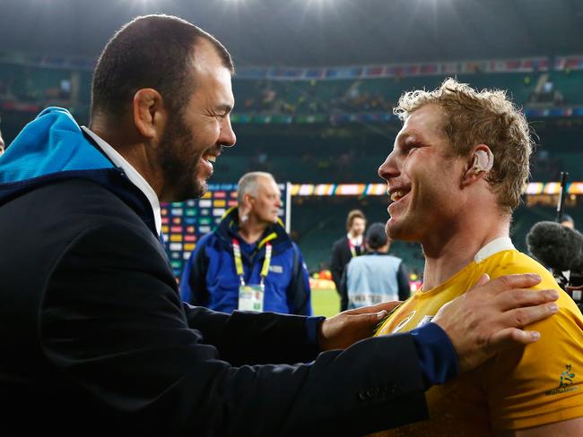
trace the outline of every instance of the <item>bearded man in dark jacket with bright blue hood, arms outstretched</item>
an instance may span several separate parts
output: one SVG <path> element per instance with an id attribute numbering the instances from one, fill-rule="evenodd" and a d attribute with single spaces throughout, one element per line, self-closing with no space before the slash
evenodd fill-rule
<path id="1" fill-rule="evenodd" d="M 0 158 L 4 435 L 370 433 L 427 416 L 431 384 L 553 313 L 550 291 L 511 290 L 538 279 L 509 277 L 349 347 L 394 305 L 324 320 L 182 304 L 159 200 L 204 193 L 234 145 L 231 73 L 203 30 L 139 17 L 100 56 L 90 128 L 48 108 Z"/>

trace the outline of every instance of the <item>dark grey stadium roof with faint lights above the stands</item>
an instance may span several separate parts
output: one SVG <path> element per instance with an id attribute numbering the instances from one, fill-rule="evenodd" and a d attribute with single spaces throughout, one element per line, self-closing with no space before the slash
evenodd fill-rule
<path id="1" fill-rule="evenodd" d="M 0 0 L 0 50 L 97 56 L 144 13 L 194 22 L 239 66 L 583 54 L 581 0 Z"/>

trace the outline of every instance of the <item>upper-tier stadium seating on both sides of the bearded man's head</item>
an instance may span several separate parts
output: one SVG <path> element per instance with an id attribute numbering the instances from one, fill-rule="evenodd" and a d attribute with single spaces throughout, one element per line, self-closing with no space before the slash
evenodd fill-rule
<path id="1" fill-rule="evenodd" d="M 50 68 L 43 64 L 0 62 L 0 96 L 45 104 L 57 98 L 68 99 L 62 81 L 79 74 L 75 105 L 87 105 L 91 99 L 91 71 Z M 561 91 L 566 104 L 583 104 L 583 71 L 550 73 L 464 73 L 457 74 L 474 88 L 509 90 L 515 102 L 525 105 L 532 100 L 541 75 L 548 76 L 554 89 Z M 327 81 L 266 81 L 238 79 L 234 90 L 237 113 L 266 115 L 305 115 L 334 113 L 390 113 L 405 90 L 433 89 L 444 75 L 403 76 L 378 79 Z"/>

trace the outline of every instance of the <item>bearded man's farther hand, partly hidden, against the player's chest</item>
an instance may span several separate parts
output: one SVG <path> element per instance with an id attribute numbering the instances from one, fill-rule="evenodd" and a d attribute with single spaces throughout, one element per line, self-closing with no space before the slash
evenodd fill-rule
<path id="1" fill-rule="evenodd" d="M 344 349 L 369 338 L 379 322 L 400 302 L 387 302 L 344 311 L 320 323 L 318 344 L 322 350 Z"/>

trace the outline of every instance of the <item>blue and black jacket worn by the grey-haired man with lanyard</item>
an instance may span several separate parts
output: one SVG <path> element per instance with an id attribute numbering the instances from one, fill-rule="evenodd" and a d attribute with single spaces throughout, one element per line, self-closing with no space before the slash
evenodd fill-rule
<path id="1" fill-rule="evenodd" d="M 215 311 L 232 313 L 239 304 L 241 284 L 235 266 L 233 238 L 239 242 L 246 285 L 258 285 L 265 261 L 265 245 L 272 257 L 265 278 L 265 312 L 311 315 L 308 270 L 300 249 L 278 220 L 255 244 L 239 236 L 239 211 L 228 210 L 221 223 L 196 245 L 180 281 L 185 302 Z"/>

